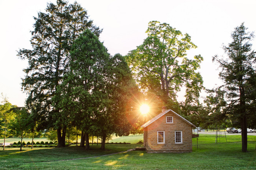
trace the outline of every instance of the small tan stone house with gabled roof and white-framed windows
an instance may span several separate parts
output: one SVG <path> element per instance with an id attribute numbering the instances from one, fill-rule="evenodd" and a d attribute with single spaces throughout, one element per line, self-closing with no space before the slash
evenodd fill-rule
<path id="1" fill-rule="evenodd" d="M 196 126 L 166 107 L 141 127 L 148 153 L 192 152 L 192 129 Z"/>

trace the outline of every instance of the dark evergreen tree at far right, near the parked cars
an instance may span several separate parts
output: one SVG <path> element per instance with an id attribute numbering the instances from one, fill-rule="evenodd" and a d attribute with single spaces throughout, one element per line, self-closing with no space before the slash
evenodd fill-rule
<path id="1" fill-rule="evenodd" d="M 223 49 L 228 58 L 215 56 L 220 67 L 220 78 L 226 91 L 228 106 L 224 113 L 231 116 L 231 120 L 242 132 L 242 152 L 247 152 L 247 127 L 249 119 L 255 119 L 256 101 L 256 57 L 251 49 L 253 33 L 246 32 L 244 23 L 235 28 L 231 34 L 233 41 Z M 251 122 L 250 127 L 256 123 Z"/>

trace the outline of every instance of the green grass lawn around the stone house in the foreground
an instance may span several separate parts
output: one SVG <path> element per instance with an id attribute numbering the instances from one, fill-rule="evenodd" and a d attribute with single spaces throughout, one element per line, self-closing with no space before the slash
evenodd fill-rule
<path id="1" fill-rule="evenodd" d="M 100 145 L 95 144 L 89 151 L 76 146 L 24 148 L 22 152 L 17 148 L 6 148 L 0 150 L 0 169 L 256 169 L 256 136 L 248 136 L 248 153 L 241 152 L 241 136 L 228 136 L 231 143 L 218 144 L 215 144 L 215 135 L 200 134 L 198 139 L 198 150 L 197 140 L 193 138 L 191 153 L 147 154 L 145 151 L 131 151 L 78 160 L 67 159 L 111 154 L 142 145 L 106 144 L 105 151 L 99 150 Z"/>

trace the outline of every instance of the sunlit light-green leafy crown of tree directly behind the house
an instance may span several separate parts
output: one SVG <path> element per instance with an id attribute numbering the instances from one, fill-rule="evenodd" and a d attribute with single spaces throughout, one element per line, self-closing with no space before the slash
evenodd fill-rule
<path id="1" fill-rule="evenodd" d="M 186 57 L 187 50 L 197 47 L 191 37 L 158 21 L 149 22 L 146 33 L 148 37 L 143 44 L 127 56 L 142 92 L 148 98 L 157 96 L 158 102 L 167 105 L 170 99 L 176 101 L 176 93 L 185 85 L 186 100 L 197 102 L 203 80 L 196 70 L 203 58 L 200 55 L 194 60 Z"/>

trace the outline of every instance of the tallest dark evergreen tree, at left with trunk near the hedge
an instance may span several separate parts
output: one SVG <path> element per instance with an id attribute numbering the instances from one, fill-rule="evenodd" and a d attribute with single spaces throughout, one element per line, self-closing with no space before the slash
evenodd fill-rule
<path id="1" fill-rule="evenodd" d="M 64 147 L 66 122 L 58 119 L 62 108 L 56 107 L 59 103 L 56 89 L 62 83 L 64 72 L 69 70 L 69 51 L 74 39 L 85 29 L 97 35 L 101 30 L 92 25 L 81 5 L 76 2 L 68 5 L 65 0 L 57 0 L 56 5 L 48 3 L 46 13 L 39 12 L 34 19 L 32 49 L 18 52 L 21 59 L 28 60 L 22 82 L 23 90 L 28 93 L 26 107 L 36 114 L 42 129 L 57 129 L 58 146 Z"/>

